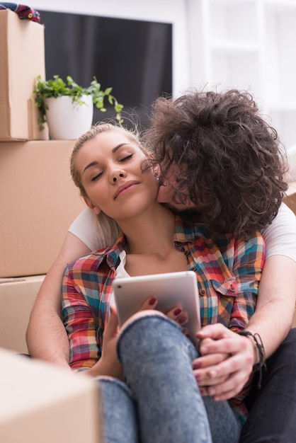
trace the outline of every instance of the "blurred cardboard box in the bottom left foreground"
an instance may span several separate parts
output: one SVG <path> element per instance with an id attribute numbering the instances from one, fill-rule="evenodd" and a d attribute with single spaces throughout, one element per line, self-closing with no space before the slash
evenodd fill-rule
<path id="1" fill-rule="evenodd" d="M 100 443 L 98 386 L 0 349 L 1 443 Z"/>

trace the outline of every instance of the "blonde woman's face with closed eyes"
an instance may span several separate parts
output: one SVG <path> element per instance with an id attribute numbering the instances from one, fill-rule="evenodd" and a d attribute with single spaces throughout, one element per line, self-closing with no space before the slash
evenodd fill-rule
<path id="1" fill-rule="evenodd" d="M 86 204 L 117 222 L 143 212 L 155 202 L 158 191 L 152 168 L 142 171 L 146 159 L 124 132 L 102 132 L 86 142 L 75 158 L 88 195 Z"/>

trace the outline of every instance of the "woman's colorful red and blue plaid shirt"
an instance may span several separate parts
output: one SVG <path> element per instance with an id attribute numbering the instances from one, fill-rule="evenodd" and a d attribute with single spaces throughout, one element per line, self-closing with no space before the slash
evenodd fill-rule
<path id="1" fill-rule="evenodd" d="M 173 241 L 196 272 L 202 326 L 222 323 L 237 332 L 253 315 L 265 256 L 261 234 L 249 241 L 230 235 L 215 241 L 204 226 L 176 216 Z M 125 246 L 121 236 L 114 246 L 89 253 L 67 266 L 62 285 L 62 316 L 70 344 L 72 369 L 89 369 L 101 357 L 112 282 Z M 242 421 L 246 389 L 230 401 Z"/>

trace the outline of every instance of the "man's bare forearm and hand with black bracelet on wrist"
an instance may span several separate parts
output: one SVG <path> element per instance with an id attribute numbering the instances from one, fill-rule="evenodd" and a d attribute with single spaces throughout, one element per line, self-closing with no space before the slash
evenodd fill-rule
<path id="1" fill-rule="evenodd" d="M 256 311 L 246 330 L 261 336 L 266 357 L 270 357 L 275 352 L 290 330 L 296 299 L 295 273 L 295 261 L 283 255 L 272 255 L 264 264 Z M 253 342 L 253 339 L 241 337 L 226 328 L 215 330 L 209 326 L 201 330 L 198 335 L 202 339 L 212 339 L 203 340 L 207 348 L 203 355 L 208 357 L 215 353 L 230 355 L 221 364 L 214 363 L 211 367 L 205 364 L 203 368 L 207 369 L 198 369 L 195 372 L 195 375 L 200 378 L 207 379 L 209 376 L 212 379 L 207 382 L 212 385 L 206 391 L 207 395 L 213 395 L 216 400 L 226 400 L 237 395 L 241 368 L 246 367 L 250 359 L 253 359 L 253 364 L 258 363 L 255 344 L 253 343 L 254 353 L 250 347 L 246 347 L 246 340 Z M 207 376 L 205 376 L 205 370 Z M 204 383 L 201 382 L 201 384 Z"/>

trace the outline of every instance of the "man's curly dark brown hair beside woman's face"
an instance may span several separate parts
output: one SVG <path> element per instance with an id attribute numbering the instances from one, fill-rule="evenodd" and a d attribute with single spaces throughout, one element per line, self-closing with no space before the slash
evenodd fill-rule
<path id="1" fill-rule="evenodd" d="M 212 234 L 248 238 L 278 214 L 288 189 L 280 141 L 248 92 L 157 98 L 144 139 L 164 178 L 178 168 L 173 202 L 189 195 Z"/>

